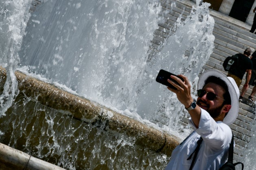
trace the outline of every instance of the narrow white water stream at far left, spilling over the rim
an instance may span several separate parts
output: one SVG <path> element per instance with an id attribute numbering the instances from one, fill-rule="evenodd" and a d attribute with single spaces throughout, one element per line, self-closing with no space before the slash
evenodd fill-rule
<path id="1" fill-rule="evenodd" d="M 0 117 L 5 114 L 18 93 L 14 72 L 20 61 L 18 51 L 29 19 L 28 4 L 28 0 L 24 2 L 13 0 L 3 1 L 0 5 L 0 66 L 7 70 L 7 81 L 0 95 Z"/>

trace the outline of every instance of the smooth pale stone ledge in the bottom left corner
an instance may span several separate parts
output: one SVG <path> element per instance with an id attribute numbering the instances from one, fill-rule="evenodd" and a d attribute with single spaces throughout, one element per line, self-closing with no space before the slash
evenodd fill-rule
<path id="1" fill-rule="evenodd" d="M 0 143 L 0 170 L 65 170 Z"/>

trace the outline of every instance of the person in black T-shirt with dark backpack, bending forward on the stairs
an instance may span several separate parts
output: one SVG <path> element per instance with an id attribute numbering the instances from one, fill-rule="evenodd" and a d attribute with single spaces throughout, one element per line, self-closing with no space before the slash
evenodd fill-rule
<path id="1" fill-rule="evenodd" d="M 245 87 L 248 86 L 249 81 L 251 79 L 252 61 L 249 58 L 251 53 L 251 49 L 247 48 L 245 49 L 243 54 L 235 54 L 236 56 L 238 56 L 238 64 L 236 66 L 233 66 L 228 72 L 227 76 L 232 77 L 236 81 L 236 85 L 238 86 L 238 88 L 241 85 L 245 72 L 247 72 L 246 82 L 244 84 Z"/>

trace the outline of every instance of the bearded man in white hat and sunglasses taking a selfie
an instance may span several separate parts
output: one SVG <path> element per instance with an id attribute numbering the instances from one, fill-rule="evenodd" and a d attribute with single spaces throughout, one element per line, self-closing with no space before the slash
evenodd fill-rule
<path id="1" fill-rule="evenodd" d="M 217 70 L 206 70 L 197 83 L 197 101 L 191 96 L 191 85 L 184 75 L 171 76 L 171 89 L 189 112 L 194 131 L 171 154 L 166 170 L 216 170 L 228 160 L 232 130 L 228 125 L 236 120 L 239 110 L 239 89 L 232 77 Z M 202 139 L 202 140 L 200 140 Z M 197 142 L 198 154 L 195 156 Z M 195 156 L 195 158 L 194 158 Z M 194 159 L 194 162 L 193 162 Z M 193 164 L 192 164 L 193 162 Z"/>

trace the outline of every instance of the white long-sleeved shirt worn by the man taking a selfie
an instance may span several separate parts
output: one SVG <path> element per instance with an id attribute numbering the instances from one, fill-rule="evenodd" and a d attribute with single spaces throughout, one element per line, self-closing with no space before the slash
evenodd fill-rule
<path id="1" fill-rule="evenodd" d="M 165 170 L 189 170 L 195 154 L 193 151 L 197 147 L 197 140 L 200 139 L 200 136 L 203 141 L 193 170 L 218 170 L 228 161 L 229 145 L 232 139 L 230 127 L 222 121 L 216 122 L 202 108 L 199 127 L 196 128 L 191 119 L 190 124 L 195 131 L 174 149 Z M 193 153 L 192 158 L 187 160 L 191 153 Z"/>

